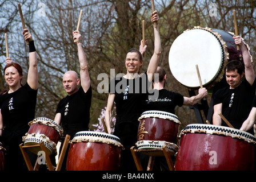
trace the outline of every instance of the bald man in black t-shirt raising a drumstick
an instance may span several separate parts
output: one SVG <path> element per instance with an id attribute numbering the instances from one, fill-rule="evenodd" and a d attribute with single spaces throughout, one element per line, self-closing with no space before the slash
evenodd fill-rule
<path id="1" fill-rule="evenodd" d="M 62 124 L 63 137 L 68 134 L 71 139 L 78 131 L 89 130 L 91 107 L 91 81 L 79 31 L 73 32 L 73 38 L 77 39 L 81 80 L 75 71 L 67 71 L 63 75 L 67 96 L 59 102 L 54 119 L 59 125 Z"/>

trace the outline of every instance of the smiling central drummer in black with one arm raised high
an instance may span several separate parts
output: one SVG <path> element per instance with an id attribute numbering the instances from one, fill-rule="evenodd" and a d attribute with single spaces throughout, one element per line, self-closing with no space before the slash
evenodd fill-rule
<path id="1" fill-rule="evenodd" d="M 151 14 L 151 22 L 158 22 L 159 16 L 157 11 Z M 151 57 L 147 71 L 140 74 L 140 69 L 143 64 L 142 55 L 146 50 L 146 46 L 141 46 L 138 49 L 132 48 L 128 51 L 125 59 L 126 75 L 116 77 L 110 82 L 109 98 L 107 100 L 107 108 L 105 112 L 105 121 L 107 130 L 111 133 L 111 113 L 113 105 L 117 109 L 117 120 L 115 123 L 114 135 L 121 139 L 121 143 L 125 147 L 121 155 L 121 170 L 137 170 L 130 148 L 137 142 L 138 133 L 138 118 L 145 109 L 144 104 L 147 98 L 147 90 L 144 83 L 151 81 L 161 55 L 161 38 L 159 35 L 159 27 L 154 27 L 154 54 Z M 145 78 L 145 80 L 143 80 Z M 123 88 L 118 88 L 120 83 L 123 83 Z M 139 90 L 139 92 L 138 92 Z"/>

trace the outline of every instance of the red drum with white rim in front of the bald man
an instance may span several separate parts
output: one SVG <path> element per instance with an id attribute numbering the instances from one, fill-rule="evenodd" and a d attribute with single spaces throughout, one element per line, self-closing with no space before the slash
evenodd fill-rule
<path id="1" fill-rule="evenodd" d="M 120 166 L 120 139 L 96 131 L 81 131 L 70 142 L 67 171 L 117 171 Z"/>

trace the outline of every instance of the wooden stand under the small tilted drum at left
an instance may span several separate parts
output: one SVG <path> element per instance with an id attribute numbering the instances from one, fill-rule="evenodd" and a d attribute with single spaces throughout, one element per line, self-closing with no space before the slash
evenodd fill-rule
<path id="1" fill-rule="evenodd" d="M 67 146 L 69 144 L 69 139 L 70 139 L 70 135 L 66 135 L 64 143 L 63 143 L 63 147 L 62 147 L 62 150 L 61 150 L 61 154 L 59 155 L 58 164 L 57 164 L 57 167 L 55 168 L 55 171 L 59 171 L 61 169 L 62 162 L 63 162 L 64 156 L 66 154 Z M 50 156 L 47 153 L 47 149 L 45 147 L 44 142 L 41 142 L 41 143 L 35 144 L 35 145 L 31 145 L 31 146 L 23 146 L 23 143 L 19 145 L 19 148 L 21 148 L 23 158 L 25 159 L 25 162 L 26 162 L 26 165 L 27 165 L 27 168 L 29 169 L 29 171 L 38 171 L 39 166 L 40 166 L 40 164 L 38 163 L 38 158 L 39 158 L 39 156 L 38 156 L 37 162 L 35 163 L 35 166 L 33 168 L 32 164 L 31 164 L 31 161 L 30 161 L 30 158 L 29 158 L 29 155 L 27 154 L 27 151 L 25 150 L 25 148 L 30 148 L 30 147 L 40 147 L 41 150 L 43 152 L 45 152 L 45 161 L 46 161 L 46 164 L 47 164 L 47 167 L 48 167 L 49 171 L 54 171 L 54 166 L 51 163 L 51 159 L 50 159 Z"/>

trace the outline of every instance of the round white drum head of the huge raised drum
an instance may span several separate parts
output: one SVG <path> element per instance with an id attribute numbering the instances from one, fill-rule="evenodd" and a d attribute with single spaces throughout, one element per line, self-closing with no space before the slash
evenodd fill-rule
<path id="1" fill-rule="evenodd" d="M 198 65 L 203 86 L 216 80 L 226 60 L 220 39 L 210 28 L 193 29 L 179 35 L 169 52 L 169 66 L 174 78 L 189 88 L 199 88 L 195 67 Z"/>

